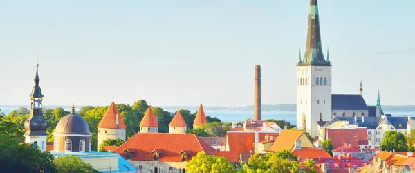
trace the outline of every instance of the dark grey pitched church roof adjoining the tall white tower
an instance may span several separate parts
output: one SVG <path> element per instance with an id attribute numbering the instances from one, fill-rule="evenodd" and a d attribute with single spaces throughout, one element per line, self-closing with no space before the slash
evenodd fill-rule
<path id="1" fill-rule="evenodd" d="M 332 94 L 331 110 L 367 110 L 367 104 L 359 94 Z"/>

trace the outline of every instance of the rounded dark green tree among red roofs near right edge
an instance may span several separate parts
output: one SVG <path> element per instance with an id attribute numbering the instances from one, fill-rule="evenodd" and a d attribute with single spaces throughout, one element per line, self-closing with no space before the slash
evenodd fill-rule
<path id="1" fill-rule="evenodd" d="M 386 131 L 385 137 L 383 137 L 382 143 L 380 143 L 380 148 L 383 151 L 392 151 L 393 149 L 395 149 L 395 152 L 408 151 L 405 136 L 397 131 Z"/>

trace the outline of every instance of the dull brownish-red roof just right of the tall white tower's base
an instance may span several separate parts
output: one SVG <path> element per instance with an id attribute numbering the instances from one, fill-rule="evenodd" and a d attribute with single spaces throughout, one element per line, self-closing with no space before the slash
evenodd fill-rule
<path id="1" fill-rule="evenodd" d="M 367 129 L 356 128 L 356 129 L 327 129 L 327 136 L 331 139 L 333 148 L 342 147 L 344 143 L 351 144 L 356 147 L 355 134 L 358 134 L 357 140 L 358 145 L 367 145 Z"/>

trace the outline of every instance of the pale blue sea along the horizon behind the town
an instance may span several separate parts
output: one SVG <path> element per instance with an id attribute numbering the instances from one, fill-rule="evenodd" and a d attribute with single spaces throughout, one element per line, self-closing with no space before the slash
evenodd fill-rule
<path id="1" fill-rule="evenodd" d="M 1 111 L 7 115 L 11 111 L 17 109 L 17 106 L 0 106 Z M 70 111 L 70 107 L 63 107 L 66 111 Z M 162 107 L 163 108 L 163 107 Z M 80 109 L 80 107 L 75 107 L 75 109 Z M 165 109 L 165 111 L 175 112 L 176 110 Z M 195 111 L 192 111 L 194 113 Z M 275 120 L 285 120 L 290 122 L 291 125 L 296 125 L 296 116 L 295 111 L 262 111 L 262 120 L 266 119 L 275 119 Z M 414 112 L 404 112 L 404 111 L 385 111 L 387 114 L 392 114 L 392 116 L 415 116 Z M 219 118 L 222 122 L 242 122 L 248 118 L 253 118 L 253 111 L 211 111 L 205 109 L 206 116 L 212 116 Z"/>

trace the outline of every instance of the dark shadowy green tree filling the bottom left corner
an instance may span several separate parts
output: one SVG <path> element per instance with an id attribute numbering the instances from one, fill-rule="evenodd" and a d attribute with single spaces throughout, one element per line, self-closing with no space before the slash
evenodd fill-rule
<path id="1" fill-rule="evenodd" d="M 56 172 L 49 152 L 19 143 L 14 136 L 0 134 L 1 172 Z"/>

